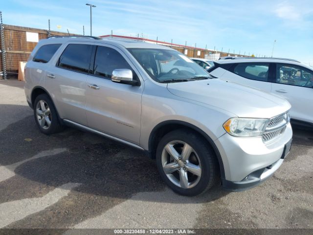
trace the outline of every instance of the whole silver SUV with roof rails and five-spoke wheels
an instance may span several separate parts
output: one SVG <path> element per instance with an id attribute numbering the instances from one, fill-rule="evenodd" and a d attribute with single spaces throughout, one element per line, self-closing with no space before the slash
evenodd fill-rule
<path id="1" fill-rule="evenodd" d="M 254 187 L 290 151 L 288 101 L 213 78 L 169 47 L 52 37 L 31 53 L 25 78 L 41 132 L 71 125 L 141 149 L 179 194 L 221 179 L 229 190 Z"/>

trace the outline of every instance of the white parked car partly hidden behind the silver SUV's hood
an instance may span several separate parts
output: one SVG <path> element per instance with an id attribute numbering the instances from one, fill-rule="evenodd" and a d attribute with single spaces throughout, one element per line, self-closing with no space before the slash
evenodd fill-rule
<path id="1" fill-rule="evenodd" d="M 291 103 L 291 121 L 313 127 L 313 68 L 282 58 L 228 58 L 214 62 L 210 74 L 280 95 Z"/>

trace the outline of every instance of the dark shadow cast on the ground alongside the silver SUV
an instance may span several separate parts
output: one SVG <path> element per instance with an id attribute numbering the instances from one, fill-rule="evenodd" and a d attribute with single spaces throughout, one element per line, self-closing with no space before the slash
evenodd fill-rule
<path id="1" fill-rule="evenodd" d="M 0 131 L 0 140 L 5 140 L 0 148 L 0 165 L 10 168 L 12 164 L 25 161 L 13 168 L 15 176 L 0 182 L 4 191 L 17 192 L 0 197 L 0 203 L 40 196 L 70 182 L 82 184 L 72 190 L 110 198 L 127 199 L 138 192 L 168 190 L 159 177 L 155 160 L 140 150 L 94 134 L 66 128 L 62 133 L 47 136 L 38 130 L 34 118 L 28 116 Z M 64 151 L 26 161 L 53 149 Z M 36 190 L 25 190 L 34 184 Z M 209 202 L 227 193 L 216 185 L 209 193 L 194 197 L 193 202 Z M 161 200 L 186 202 L 184 197 L 174 192 L 170 194 L 173 195 Z M 173 201 L 173 196 L 178 200 Z"/>

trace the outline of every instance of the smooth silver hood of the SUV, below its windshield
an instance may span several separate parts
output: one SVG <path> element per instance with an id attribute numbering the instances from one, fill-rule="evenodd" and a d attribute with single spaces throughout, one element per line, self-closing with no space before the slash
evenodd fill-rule
<path id="1" fill-rule="evenodd" d="M 218 78 L 169 83 L 167 89 L 179 97 L 224 109 L 241 118 L 272 118 L 291 108 L 282 97 Z"/>

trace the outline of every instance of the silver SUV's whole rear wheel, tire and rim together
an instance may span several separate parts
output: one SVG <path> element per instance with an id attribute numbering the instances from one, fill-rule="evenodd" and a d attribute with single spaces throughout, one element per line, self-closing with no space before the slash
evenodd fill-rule
<path id="1" fill-rule="evenodd" d="M 40 94 L 34 102 L 34 118 L 40 131 L 46 135 L 63 130 L 57 111 L 47 94 Z"/>

